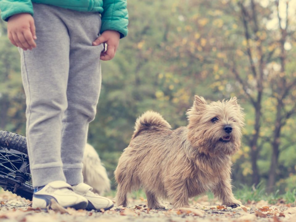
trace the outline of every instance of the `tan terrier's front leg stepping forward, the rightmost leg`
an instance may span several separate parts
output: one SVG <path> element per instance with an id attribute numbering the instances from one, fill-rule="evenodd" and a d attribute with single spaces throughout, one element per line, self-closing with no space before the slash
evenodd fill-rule
<path id="1" fill-rule="evenodd" d="M 215 197 L 218 197 L 222 201 L 222 205 L 232 208 L 241 206 L 241 201 L 235 199 L 232 193 L 230 179 L 221 179 L 212 188 L 212 192 L 214 193 Z"/>

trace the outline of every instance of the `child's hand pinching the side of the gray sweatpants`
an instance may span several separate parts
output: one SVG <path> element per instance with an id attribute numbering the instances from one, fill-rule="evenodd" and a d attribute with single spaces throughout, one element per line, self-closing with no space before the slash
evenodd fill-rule
<path id="1" fill-rule="evenodd" d="M 113 59 L 117 47 L 119 45 L 120 34 L 118 31 L 106 30 L 99 36 L 92 45 L 99 45 L 101 43 L 107 44 L 107 51 L 101 53 L 101 60 L 107 61 Z"/>

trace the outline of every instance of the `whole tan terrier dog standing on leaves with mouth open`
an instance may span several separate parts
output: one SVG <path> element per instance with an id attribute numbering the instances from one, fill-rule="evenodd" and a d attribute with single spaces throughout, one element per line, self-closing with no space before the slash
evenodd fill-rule
<path id="1" fill-rule="evenodd" d="M 127 194 L 141 186 L 149 208 L 164 208 L 157 197 L 168 198 L 174 208 L 185 207 L 188 198 L 209 189 L 222 205 L 240 206 L 230 179 L 231 155 L 241 146 L 244 126 L 236 97 L 208 104 L 195 96 L 187 115 L 187 127 L 176 130 L 153 111 L 137 119 L 114 172 L 118 206 L 126 207 Z"/>

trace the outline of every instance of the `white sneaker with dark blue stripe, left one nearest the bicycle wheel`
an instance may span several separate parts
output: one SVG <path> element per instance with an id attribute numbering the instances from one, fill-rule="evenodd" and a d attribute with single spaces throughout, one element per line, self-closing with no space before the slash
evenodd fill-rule
<path id="1" fill-rule="evenodd" d="M 50 208 L 51 199 L 62 207 L 85 209 L 88 206 L 88 200 L 81 195 L 73 192 L 70 184 L 64 181 L 53 181 L 40 189 L 35 188 L 33 193 L 32 208 L 46 209 Z"/>

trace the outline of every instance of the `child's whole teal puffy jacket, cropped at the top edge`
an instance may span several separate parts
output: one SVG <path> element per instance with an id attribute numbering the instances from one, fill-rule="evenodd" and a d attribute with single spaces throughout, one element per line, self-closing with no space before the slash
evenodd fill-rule
<path id="1" fill-rule="evenodd" d="M 59 6 L 76 11 L 100 12 L 101 33 L 115 30 L 123 38 L 127 35 L 128 12 L 126 0 L 0 0 L 1 18 L 5 21 L 19 13 L 34 14 L 32 2 Z"/>

